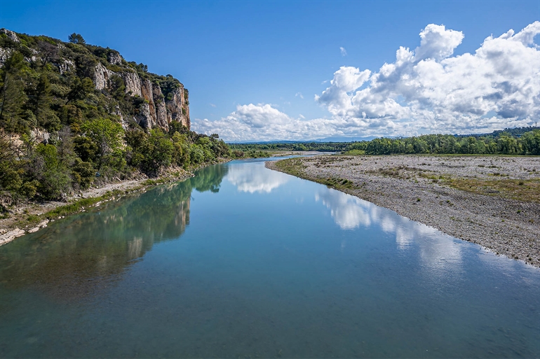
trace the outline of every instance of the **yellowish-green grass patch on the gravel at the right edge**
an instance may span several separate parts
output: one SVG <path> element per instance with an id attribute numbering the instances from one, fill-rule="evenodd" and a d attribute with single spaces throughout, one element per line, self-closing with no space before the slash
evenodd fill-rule
<path id="1" fill-rule="evenodd" d="M 452 178 L 445 183 L 452 188 L 479 195 L 499 196 L 522 202 L 540 202 L 540 180 Z"/>

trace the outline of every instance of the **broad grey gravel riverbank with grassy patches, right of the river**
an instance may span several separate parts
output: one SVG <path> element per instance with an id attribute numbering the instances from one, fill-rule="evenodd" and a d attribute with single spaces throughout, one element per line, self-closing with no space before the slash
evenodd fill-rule
<path id="1" fill-rule="evenodd" d="M 316 156 L 266 162 L 540 267 L 540 158 Z"/>

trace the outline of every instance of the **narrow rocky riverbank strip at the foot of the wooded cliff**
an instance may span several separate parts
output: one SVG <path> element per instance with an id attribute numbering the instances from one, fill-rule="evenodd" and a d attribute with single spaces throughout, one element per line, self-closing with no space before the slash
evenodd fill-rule
<path id="1" fill-rule="evenodd" d="M 227 162 L 230 159 L 221 158 L 215 163 Z M 215 164 L 211 163 L 211 164 Z M 9 216 L 0 219 L 0 246 L 13 241 L 27 233 L 37 232 L 46 227 L 49 222 L 65 218 L 73 213 L 86 211 L 86 209 L 98 206 L 102 202 L 117 200 L 133 192 L 145 191 L 154 185 L 163 183 L 184 181 L 194 176 L 194 171 L 201 166 L 192 167 L 189 170 L 180 167 L 170 167 L 161 172 L 157 178 L 149 178 L 139 174 L 128 181 L 117 181 L 100 186 L 90 187 L 70 196 L 67 202 L 20 202 L 9 209 Z"/>

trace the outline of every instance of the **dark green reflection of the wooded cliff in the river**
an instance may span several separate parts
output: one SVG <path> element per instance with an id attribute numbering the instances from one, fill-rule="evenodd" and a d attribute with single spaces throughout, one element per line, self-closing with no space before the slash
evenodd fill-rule
<path id="1" fill-rule="evenodd" d="M 0 286 L 39 287 L 54 297 L 91 295 L 114 282 L 154 243 L 189 225 L 191 191 L 218 192 L 227 167 L 108 202 L 0 247 Z M 62 235 L 59 235 L 62 234 Z"/>

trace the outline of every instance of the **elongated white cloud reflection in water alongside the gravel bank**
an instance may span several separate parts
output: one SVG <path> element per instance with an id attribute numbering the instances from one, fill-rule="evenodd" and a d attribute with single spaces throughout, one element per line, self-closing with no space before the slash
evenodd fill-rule
<path id="1" fill-rule="evenodd" d="M 315 199 L 330 209 L 330 215 L 343 230 L 353 230 L 360 225 L 377 225 L 384 232 L 395 234 L 396 244 L 401 250 L 407 249 L 415 241 L 419 246 L 419 258 L 426 267 L 442 269 L 449 267 L 452 262 L 452 267 L 456 269 L 461 263 L 461 248 L 454 244 L 451 237 L 441 235 L 433 227 L 331 188 L 321 186 Z"/>

